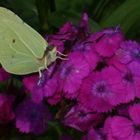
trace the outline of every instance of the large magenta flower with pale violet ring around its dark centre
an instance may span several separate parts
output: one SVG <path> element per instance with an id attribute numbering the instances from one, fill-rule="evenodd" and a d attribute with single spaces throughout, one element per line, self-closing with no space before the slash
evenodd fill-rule
<path id="1" fill-rule="evenodd" d="M 83 81 L 78 101 L 92 111 L 110 111 L 122 101 L 122 94 L 118 90 L 120 83 L 119 71 L 111 66 L 101 72 L 93 72 Z"/>

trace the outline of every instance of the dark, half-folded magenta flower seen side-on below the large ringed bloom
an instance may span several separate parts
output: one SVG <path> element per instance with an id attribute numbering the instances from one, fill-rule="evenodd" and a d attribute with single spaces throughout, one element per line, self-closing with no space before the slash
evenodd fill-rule
<path id="1" fill-rule="evenodd" d="M 86 131 L 97 126 L 103 120 L 103 115 L 86 111 L 81 106 L 74 106 L 65 115 L 63 123 L 80 131 Z"/>

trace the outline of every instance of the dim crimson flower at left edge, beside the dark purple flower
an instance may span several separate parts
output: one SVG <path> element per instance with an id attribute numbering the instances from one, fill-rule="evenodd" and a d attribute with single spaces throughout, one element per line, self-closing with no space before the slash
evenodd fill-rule
<path id="1" fill-rule="evenodd" d="M 0 93 L 0 122 L 7 123 L 15 118 L 13 112 L 13 96 L 7 96 L 4 93 Z"/>

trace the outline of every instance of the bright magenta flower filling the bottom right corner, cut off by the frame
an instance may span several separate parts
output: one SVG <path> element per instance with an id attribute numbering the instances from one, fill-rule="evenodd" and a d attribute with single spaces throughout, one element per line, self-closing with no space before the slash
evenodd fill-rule
<path id="1" fill-rule="evenodd" d="M 129 118 L 114 116 L 105 121 L 104 133 L 108 139 L 139 140 L 140 132 L 140 104 L 134 104 L 129 108 Z M 114 139 L 113 139 L 114 138 Z"/>

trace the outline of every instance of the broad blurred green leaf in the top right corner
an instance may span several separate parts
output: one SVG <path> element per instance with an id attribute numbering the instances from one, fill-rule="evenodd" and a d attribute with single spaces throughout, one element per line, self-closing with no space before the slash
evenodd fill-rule
<path id="1" fill-rule="evenodd" d="M 140 1 L 126 0 L 108 18 L 101 21 L 102 27 L 121 25 L 124 32 L 140 19 Z"/>

